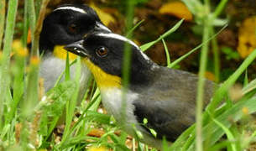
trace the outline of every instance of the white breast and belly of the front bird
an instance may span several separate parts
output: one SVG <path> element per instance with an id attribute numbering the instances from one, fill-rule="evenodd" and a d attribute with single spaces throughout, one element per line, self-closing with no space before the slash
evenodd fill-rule
<path id="1" fill-rule="evenodd" d="M 103 103 L 103 106 L 106 108 L 107 113 L 115 117 L 118 123 L 123 122 L 122 120 L 124 119 L 124 117 L 121 113 L 123 111 L 122 90 L 118 88 L 102 89 L 101 94 L 102 94 L 102 103 Z M 129 91 L 126 97 L 126 107 L 125 107 L 126 122 L 124 122 L 124 125 L 122 126 L 122 128 L 124 128 L 124 130 L 128 134 L 133 135 L 134 137 L 135 134 L 134 134 L 133 125 L 136 126 L 137 130 L 143 133 L 144 135 L 144 138 L 141 139 L 142 142 L 148 143 L 150 146 L 152 145 L 156 148 L 161 148 L 162 141 L 152 137 L 152 135 L 148 131 L 146 131 L 141 126 L 141 124 L 137 122 L 137 119 L 133 114 L 133 111 L 134 111 L 133 102 L 136 99 L 138 99 L 138 94 Z"/>

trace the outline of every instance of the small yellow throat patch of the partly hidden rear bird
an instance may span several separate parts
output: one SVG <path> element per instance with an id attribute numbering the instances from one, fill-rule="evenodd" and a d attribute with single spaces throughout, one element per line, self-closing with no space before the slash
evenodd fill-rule
<path id="1" fill-rule="evenodd" d="M 62 60 L 66 59 L 67 51 L 63 49 L 64 45 L 56 45 L 53 51 L 53 55 Z M 69 60 L 76 60 L 77 55 L 69 53 Z"/>

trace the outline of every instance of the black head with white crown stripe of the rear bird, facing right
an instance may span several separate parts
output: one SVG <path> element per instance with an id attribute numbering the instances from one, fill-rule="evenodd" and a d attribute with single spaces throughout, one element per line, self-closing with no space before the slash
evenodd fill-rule
<path id="1" fill-rule="evenodd" d="M 71 44 L 93 31 L 110 32 L 89 6 L 62 5 L 44 19 L 39 39 L 40 53 L 51 51 L 55 45 Z"/>

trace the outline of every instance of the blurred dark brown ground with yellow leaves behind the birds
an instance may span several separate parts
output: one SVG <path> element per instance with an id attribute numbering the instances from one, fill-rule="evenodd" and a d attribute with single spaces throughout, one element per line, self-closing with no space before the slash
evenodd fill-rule
<path id="1" fill-rule="evenodd" d="M 125 33 L 126 3 L 122 0 L 55 0 L 50 1 L 47 13 L 64 3 L 86 3 L 96 9 L 102 22 L 112 29 L 114 33 Z M 211 1 L 211 9 L 214 10 L 218 0 Z M 19 1 L 18 19 L 15 36 L 18 39 L 23 29 L 24 1 Z M 39 7 L 38 7 L 39 8 Z M 224 81 L 238 68 L 245 57 L 256 48 L 256 0 L 230 0 L 219 16 L 219 22 L 215 26 L 217 32 L 225 23 L 226 29 L 217 35 L 217 50 L 219 52 L 220 76 L 219 81 Z M 133 41 L 138 45 L 157 39 L 159 35 L 175 25 L 181 18 L 185 18 L 178 30 L 165 38 L 171 61 L 189 52 L 198 44 L 201 44 L 202 25 L 196 20 L 196 16 L 185 6 L 176 0 L 137 0 L 133 24 L 144 20 L 133 31 Z M 187 59 L 181 61 L 176 69 L 198 72 L 199 52 L 193 53 Z M 166 65 L 166 55 L 162 43 L 155 44 L 145 52 L 154 62 Z M 210 44 L 210 57 L 208 58 L 206 77 L 217 81 L 214 74 L 213 53 Z M 248 79 L 256 77 L 256 62 L 248 68 Z M 241 77 L 241 80 L 243 78 Z"/>

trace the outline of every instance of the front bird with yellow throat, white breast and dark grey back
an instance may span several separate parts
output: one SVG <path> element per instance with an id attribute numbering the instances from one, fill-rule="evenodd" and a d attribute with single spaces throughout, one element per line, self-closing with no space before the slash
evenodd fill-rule
<path id="1" fill-rule="evenodd" d="M 118 34 L 93 33 L 85 39 L 65 46 L 84 57 L 102 94 L 107 112 L 122 122 L 122 68 L 124 44 L 131 45 L 130 83 L 126 93 L 126 124 L 133 133 L 133 124 L 144 134 L 144 143 L 161 148 L 164 136 L 170 142 L 195 122 L 198 77 L 182 70 L 154 64 L 131 40 Z M 206 80 L 205 103 L 210 102 L 214 83 Z M 144 118 L 148 122 L 143 124 Z M 149 133 L 153 128 L 154 138 Z"/>

